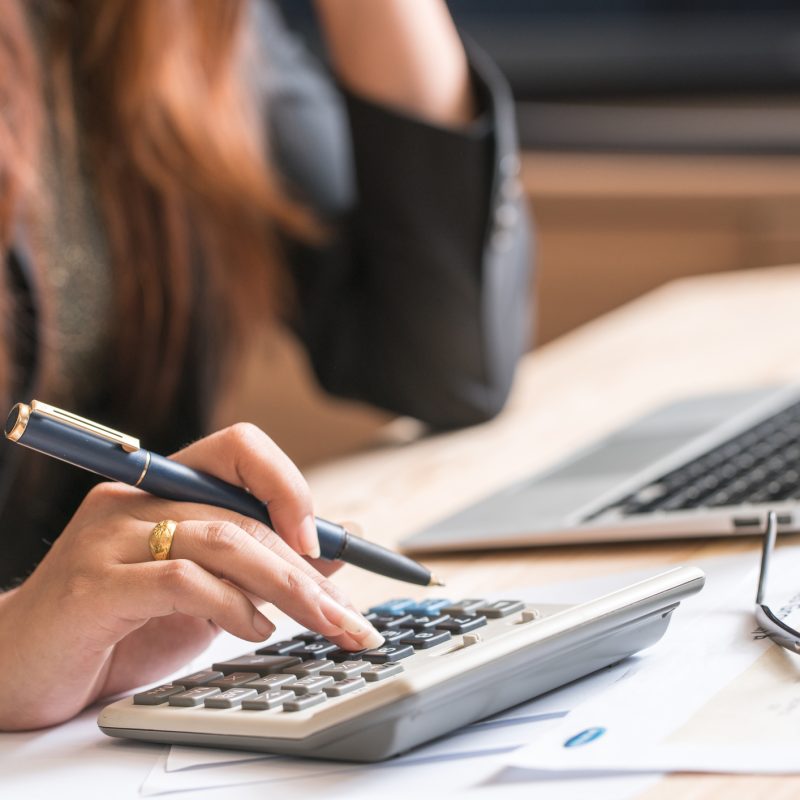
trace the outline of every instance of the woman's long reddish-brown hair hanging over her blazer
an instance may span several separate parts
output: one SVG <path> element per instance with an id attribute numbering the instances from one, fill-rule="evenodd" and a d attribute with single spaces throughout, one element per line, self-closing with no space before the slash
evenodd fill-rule
<path id="1" fill-rule="evenodd" d="M 61 101 L 74 90 L 60 107 L 74 100 L 78 109 L 114 265 L 117 388 L 134 408 L 157 398 L 166 405 L 198 309 L 208 342 L 221 347 L 241 340 L 256 309 L 262 318 L 276 313 L 287 285 L 275 225 L 314 231 L 268 163 L 243 75 L 246 5 L 73 0 L 50 15 L 53 85 Z M 11 0 L 11 14 L 8 6 L 0 19 L 0 106 L 11 109 L 0 117 L 3 247 L 19 198 L 35 192 L 31 132 L 43 102 L 21 2 Z M 69 138 L 69 114 L 55 113 Z M 5 385 L 8 361 L 0 357 Z"/>

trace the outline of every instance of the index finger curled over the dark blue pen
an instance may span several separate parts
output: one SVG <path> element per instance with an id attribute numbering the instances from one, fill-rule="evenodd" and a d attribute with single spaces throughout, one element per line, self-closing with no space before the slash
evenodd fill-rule
<path id="1" fill-rule="evenodd" d="M 292 460 L 260 428 L 246 422 L 232 425 L 171 458 L 243 486 L 267 504 L 275 531 L 294 550 L 320 557 L 308 484 Z"/>

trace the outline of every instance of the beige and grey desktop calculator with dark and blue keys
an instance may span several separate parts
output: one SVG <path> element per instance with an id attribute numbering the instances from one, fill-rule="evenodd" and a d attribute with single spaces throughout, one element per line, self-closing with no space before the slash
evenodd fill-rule
<path id="1" fill-rule="evenodd" d="M 389 600 L 386 641 L 342 650 L 314 631 L 106 707 L 110 736 L 379 761 L 614 664 L 658 641 L 705 577 L 677 567 L 579 605 Z"/>

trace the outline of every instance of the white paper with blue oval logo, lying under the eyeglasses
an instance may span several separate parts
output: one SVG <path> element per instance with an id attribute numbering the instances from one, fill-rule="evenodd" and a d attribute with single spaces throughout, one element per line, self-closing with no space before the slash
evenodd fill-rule
<path id="1" fill-rule="evenodd" d="M 800 772 L 800 656 L 753 616 L 755 554 L 720 559 L 702 602 L 613 687 L 508 759 L 577 771 Z M 778 546 L 768 600 L 800 623 L 800 548 Z"/>

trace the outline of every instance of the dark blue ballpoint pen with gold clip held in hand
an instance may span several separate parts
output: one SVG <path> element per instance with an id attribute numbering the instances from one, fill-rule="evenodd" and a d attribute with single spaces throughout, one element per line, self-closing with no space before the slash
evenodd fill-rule
<path id="1" fill-rule="evenodd" d="M 227 508 L 271 526 L 267 506 L 247 490 L 145 450 L 132 436 L 39 400 L 30 405 L 17 403 L 11 409 L 5 435 L 12 442 L 157 497 Z M 319 517 L 316 525 L 322 558 L 421 586 L 444 585 L 422 564 L 354 536 L 341 525 Z"/>

